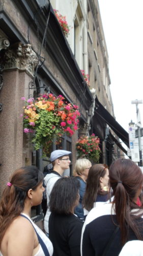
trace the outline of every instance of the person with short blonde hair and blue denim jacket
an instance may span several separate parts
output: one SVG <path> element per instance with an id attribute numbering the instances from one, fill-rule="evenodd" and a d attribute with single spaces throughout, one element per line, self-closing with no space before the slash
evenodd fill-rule
<path id="1" fill-rule="evenodd" d="M 74 213 L 77 215 L 77 217 L 84 221 L 84 213 L 83 213 L 83 206 L 82 206 L 82 199 L 85 193 L 86 185 L 87 185 L 87 178 L 89 174 L 89 169 L 92 166 L 92 163 L 90 160 L 81 158 L 78 159 L 75 163 L 74 167 L 74 176 L 76 179 L 80 182 L 80 188 L 79 188 L 79 204 L 75 208 Z"/>

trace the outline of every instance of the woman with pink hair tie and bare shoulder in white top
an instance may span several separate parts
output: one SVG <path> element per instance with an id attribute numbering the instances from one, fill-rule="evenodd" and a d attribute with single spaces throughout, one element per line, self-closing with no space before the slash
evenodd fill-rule
<path id="1" fill-rule="evenodd" d="M 15 170 L 0 203 L 0 255 L 52 255 L 50 240 L 31 220 L 31 207 L 41 204 L 43 174 L 35 166 Z"/>

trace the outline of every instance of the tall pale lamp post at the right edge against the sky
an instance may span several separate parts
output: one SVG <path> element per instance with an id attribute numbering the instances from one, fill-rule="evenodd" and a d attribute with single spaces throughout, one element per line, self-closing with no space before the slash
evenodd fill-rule
<path id="1" fill-rule="evenodd" d="M 139 146 L 139 160 L 140 166 L 142 166 L 142 150 L 141 150 L 141 136 L 140 136 L 140 128 L 141 128 L 141 120 L 138 109 L 138 104 L 142 104 L 142 100 L 132 100 L 132 104 L 136 104 L 136 116 L 137 116 L 137 131 L 138 131 L 138 146 Z"/>

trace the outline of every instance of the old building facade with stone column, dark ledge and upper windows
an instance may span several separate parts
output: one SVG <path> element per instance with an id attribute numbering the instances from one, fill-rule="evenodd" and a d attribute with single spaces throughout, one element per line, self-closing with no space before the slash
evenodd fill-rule
<path id="1" fill-rule="evenodd" d="M 43 170 L 49 159 L 34 150 L 30 135 L 23 135 L 21 97 L 51 92 L 79 106 L 79 130 L 72 137 L 65 135 L 61 144 L 72 151 L 71 173 L 80 135 L 95 133 L 100 138 L 100 162 L 110 164 L 124 151 L 119 138 L 124 139 L 120 134 L 125 131 L 115 123 L 98 1 L 61 2 L 0 0 L 1 196 L 13 170 L 31 164 Z M 53 9 L 66 16 L 67 38 Z M 81 70 L 89 74 L 90 87 Z"/>

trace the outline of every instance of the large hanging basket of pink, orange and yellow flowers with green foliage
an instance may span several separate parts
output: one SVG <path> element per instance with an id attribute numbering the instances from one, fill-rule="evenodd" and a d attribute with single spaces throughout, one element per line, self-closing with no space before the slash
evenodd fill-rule
<path id="1" fill-rule="evenodd" d="M 72 136 L 78 129 L 80 113 L 77 105 L 67 103 L 62 95 L 40 95 L 36 100 L 25 100 L 23 127 L 24 133 L 32 133 L 35 150 L 43 146 L 45 155 L 49 154 L 53 140 L 58 143 L 64 133 Z"/>

